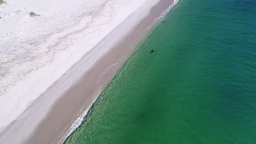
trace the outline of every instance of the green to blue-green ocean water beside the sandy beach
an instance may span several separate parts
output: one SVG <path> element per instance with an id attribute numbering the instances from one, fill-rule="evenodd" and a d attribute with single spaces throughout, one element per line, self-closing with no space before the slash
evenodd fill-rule
<path id="1" fill-rule="evenodd" d="M 180 0 L 162 21 L 66 144 L 256 143 L 256 1 Z"/>

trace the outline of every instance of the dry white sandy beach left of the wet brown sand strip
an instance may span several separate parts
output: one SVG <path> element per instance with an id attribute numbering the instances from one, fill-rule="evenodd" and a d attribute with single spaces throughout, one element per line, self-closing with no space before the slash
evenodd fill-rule
<path id="1" fill-rule="evenodd" d="M 6 0 L 1 4 L 0 143 L 24 142 L 55 101 L 159 1 Z M 31 17 L 30 12 L 37 15 Z"/>

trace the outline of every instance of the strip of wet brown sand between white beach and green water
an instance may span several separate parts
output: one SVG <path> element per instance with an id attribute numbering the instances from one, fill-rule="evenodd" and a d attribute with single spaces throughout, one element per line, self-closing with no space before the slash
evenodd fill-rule
<path id="1" fill-rule="evenodd" d="M 135 47 L 138 45 L 145 35 L 150 31 L 150 28 L 155 24 L 155 19 L 160 17 L 162 13 L 173 4 L 173 0 L 161 0 L 151 10 L 150 14 L 144 18 L 139 24 L 120 41 L 119 44 L 112 47 L 103 57 L 101 57 L 94 66 L 86 71 L 77 83 L 62 94 L 59 100 L 51 106 L 50 111 L 33 131 L 33 135 L 26 140 L 25 143 L 62 143 L 71 130 L 72 124 L 78 119 L 86 109 L 89 109 L 91 104 L 100 95 L 103 89 L 108 85 L 112 77 L 121 68 L 127 58 L 129 58 Z M 121 27 L 121 26 L 120 26 Z M 100 47 L 104 46 L 106 41 L 115 38 L 116 33 L 120 33 L 120 27 L 115 29 L 110 34 L 111 37 L 106 37 L 98 44 L 88 55 L 86 59 L 96 55 Z M 83 62 L 75 67 L 83 67 Z M 74 69 L 75 70 L 75 69 Z M 83 73 L 83 71 L 81 71 Z M 72 76 L 72 71 L 69 71 L 61 79 Z M 65 85 L 65 83 L 62 85 Z M 53 92 L 56 87 L 52 86 L 46 93 Z M 45 94 L 47 95 L 47 94 Z M 35 104 L 39 104 L 43 99 L 39 98 Z"/>

